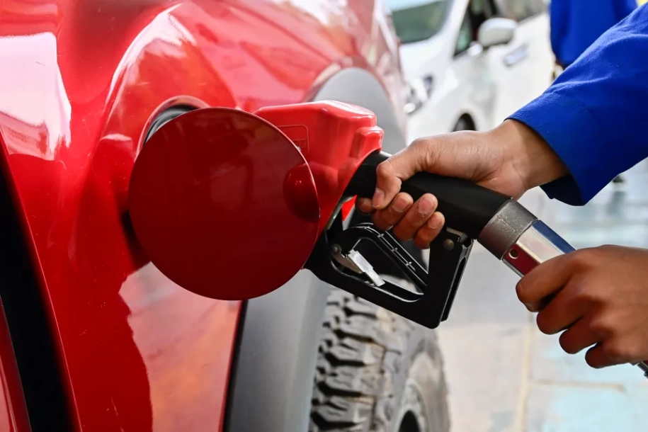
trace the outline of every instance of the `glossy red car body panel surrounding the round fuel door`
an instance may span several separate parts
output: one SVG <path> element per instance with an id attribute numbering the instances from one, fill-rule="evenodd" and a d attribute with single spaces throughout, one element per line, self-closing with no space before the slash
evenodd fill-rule
<path id="1" fill-rule="evenodd" d="M 380 13 L 370 0 L 3 2 L 1 166 L 76 430 L 222 428 L 240 304 L 171 283 L 127 223 L 152 120 L 178 104 L 307 101 L 351 66 L 375 74 L 400 113 L 397 47 Z M 24 431 L 10 348 L 0 340 L 0 427 Z"/>

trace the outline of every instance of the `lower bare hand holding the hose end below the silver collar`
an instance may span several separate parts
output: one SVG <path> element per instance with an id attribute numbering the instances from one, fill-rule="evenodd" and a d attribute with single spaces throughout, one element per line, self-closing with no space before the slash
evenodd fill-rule
<path id="1" fill-rule="evenodd" d="M 648 360 L 648 251 L 622 246 L 581 249 L 534 268 L 518 298 L 539 312 L 538 328 L 592 368 Z M 550 299 L 550 300 L 547 300 Z"/>

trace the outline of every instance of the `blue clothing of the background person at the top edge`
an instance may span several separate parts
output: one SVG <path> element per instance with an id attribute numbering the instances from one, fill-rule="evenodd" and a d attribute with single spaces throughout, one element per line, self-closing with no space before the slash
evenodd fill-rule
<path id="1" fill-rule="evenodd" d="M 637 0 L 552 0 L 551 46 L 560 64 L 572 64 L 599 36 L 637 8 Z"/>

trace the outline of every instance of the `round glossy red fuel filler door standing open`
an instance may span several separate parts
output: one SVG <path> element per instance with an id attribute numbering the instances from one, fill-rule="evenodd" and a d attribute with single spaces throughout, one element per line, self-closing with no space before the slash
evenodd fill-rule
<path id="1" fill-rule="evenodd" d="M 219 300 L 287 283 L 319 232 L 317 191 L 299 149 L 265 120 L 230 108 L 195 110 L 157 131 L 135 163 L 129 202 L 152 263 Z"/>

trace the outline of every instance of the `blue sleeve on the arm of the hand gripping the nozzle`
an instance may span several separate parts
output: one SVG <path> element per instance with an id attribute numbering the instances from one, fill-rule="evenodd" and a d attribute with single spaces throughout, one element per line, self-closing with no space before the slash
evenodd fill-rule
<path id="1" fill-rule="evenodd" d="M 584 205 L 648 157 L 648 6 L 610 28 L 545 93 L 510 118 L 555 150 L 569 176 L 542 186 Z"/>

